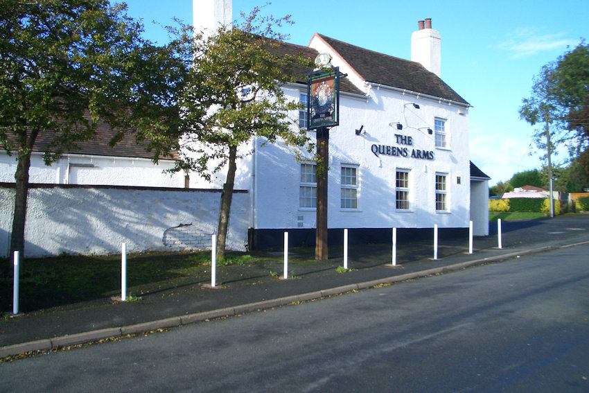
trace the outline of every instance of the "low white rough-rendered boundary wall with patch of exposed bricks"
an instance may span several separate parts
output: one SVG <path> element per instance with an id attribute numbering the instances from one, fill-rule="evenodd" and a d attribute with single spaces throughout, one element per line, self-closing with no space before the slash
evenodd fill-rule
<path id="1" fill-rule="evenodd" d="M 0 254 L 10 247 L 14 188 L 0 187 Z M 164 234 L 180 224 L 202 233 L 217 229 L 220 192 L 157 191 L 75 186 L 32 188 L 25 229 L 26 257 L 58 254 L 117 254 L 121 243 L 129 252 L 173 251 Z M 227 248 L 245 250 L 249 225 L 249 194 L 235 193 Z M 169 242 L 168 242 L 169 243 Z"/>

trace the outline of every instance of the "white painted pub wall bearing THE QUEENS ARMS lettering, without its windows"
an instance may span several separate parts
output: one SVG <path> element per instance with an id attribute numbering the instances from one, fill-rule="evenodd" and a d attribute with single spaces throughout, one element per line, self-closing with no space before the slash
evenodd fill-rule
<path id="1" fill-rule="evenodd" d="M 289 87 L 286 94 L 298 99 L 299 89 Z M 416 110 L 410 103 L 418 103 Z M 470 208 L 470 161 L 468 157 L 468 110 L 429 98 L 416 98 L 383 87 L 372 88 L 370 97 L 341 96 L 340 126 L 332 128 L 329 140 L 328 227 L 468 227 Z M 465 114 L 459 114 L 458 110 Z M 434 118 L 446 119 L 449 148 L 434 146 Z M 401 121 L 403 130 L 389 123 Z M 364 125 L 364 134 L 355 130 Z M 423 128 L 423 129 L 421 129 Z M 395 134 L 413 139 L 412 146 L 396 142 Z M 380 155 L 372 145 L 398 146 L 434 152 L 434 159 L 413 159 Z M 340 209 L 340 168 L 358 165 L 359 198 L 357 211 Z M 283 146 L 265 146 L 257 152 L 256 228 L 296 228 L 298 216 L 304 227 L 315 227 L 315 210 L 299 208 L 299 163 Z M 395 209 L 396 169 L 410 170 L 410 202 L 407 211 Z M 448 213 L 435 211 L 435 175 L 448 175 Z M 461 182 L 458 184 L 457 178 Z"/>

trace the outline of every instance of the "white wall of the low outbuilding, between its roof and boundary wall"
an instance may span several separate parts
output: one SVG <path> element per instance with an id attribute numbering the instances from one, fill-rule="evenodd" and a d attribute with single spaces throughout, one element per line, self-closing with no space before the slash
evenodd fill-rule
<path id="1" fill-rule="evenodd" d="M 169 160 L 155 165 L 144 158 L 64 155 L 46 166 L 42 154 L 33 153 L 30 161 L 30 183 L 184 187 L 184 173 L 164 173 L 174 167 Z M 0 154 L 0 182 L 15 182 L 16 169 L 14 155 Z"/>

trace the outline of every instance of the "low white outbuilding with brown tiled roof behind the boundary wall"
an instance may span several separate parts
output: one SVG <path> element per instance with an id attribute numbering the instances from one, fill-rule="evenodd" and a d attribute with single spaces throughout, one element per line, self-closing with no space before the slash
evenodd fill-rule
<path id="1" fill-rule="evenodd" d="M 146 142 L 137 142 L 128 135 L 110 147 L 113 131 L 100 123 L 96 137 L 78 143 L 80 150 L 69 150 L 51 166 L 45 165 L 43 152 L 49 138 L 39 134 L 30 159 L 31 184 L 87 184 L 109 186 L 184 187 L 184 173 L 170 175 L 166 169 L 174 167 L 177 153 L 153 164 Z M 17 160 L 0 152 L 0 182 L 14 183 Z"/>

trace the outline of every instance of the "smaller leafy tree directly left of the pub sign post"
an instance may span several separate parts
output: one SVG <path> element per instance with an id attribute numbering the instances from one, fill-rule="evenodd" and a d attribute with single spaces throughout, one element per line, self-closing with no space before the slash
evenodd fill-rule
<path id="1" fill-rule="evenodd" d="M 194 63 L 186 89 L 179 138 L 183 161 L 176 170 L 197 171 L 206 180 L 226 168 L 221 195 L 216 253 L 225 255 L 229 211 L 238 159 L 252 138 L 287 146 L 309 145 L 305 130 L 288 119 L 299 103 L 288 101 L 283 85 L 295 82 L 295 69 L 311 69 L 309 59 L 282 53 L 285 37 L 274 26 L 290 17 L 261 17 L 260 9 L 242 14 L 240 24 L 222 26 L 194 40 Z"/>

